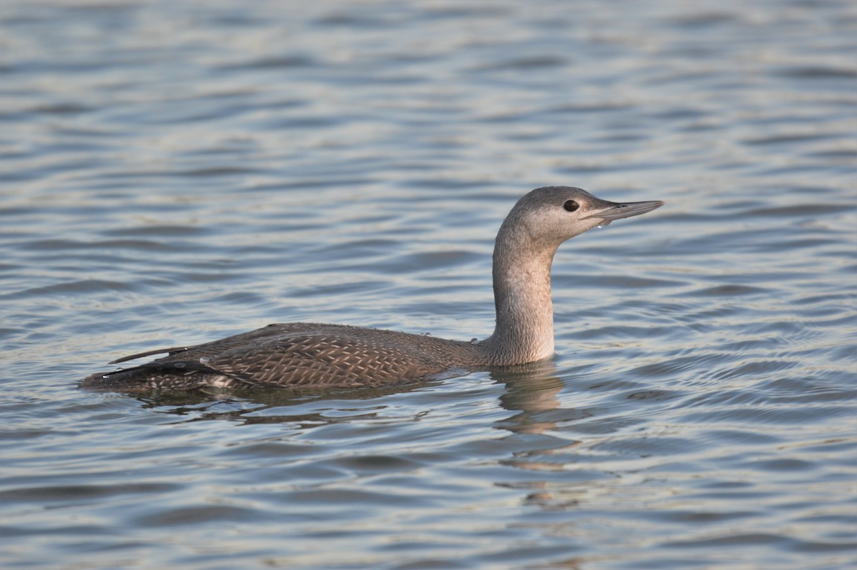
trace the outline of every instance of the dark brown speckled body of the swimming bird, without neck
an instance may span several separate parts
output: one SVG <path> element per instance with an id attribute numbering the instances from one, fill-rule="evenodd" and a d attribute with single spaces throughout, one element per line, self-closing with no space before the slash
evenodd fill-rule
<path id="1" fill-rule="evenodd" d="M 489 366 L 477 345 L 421 334 L 307 322 L 273 324 L 249 333 L 170 352 L 133 369 L 92 375 L 87 387 L 383 386 L 456 368 L 462 360 Z"/>

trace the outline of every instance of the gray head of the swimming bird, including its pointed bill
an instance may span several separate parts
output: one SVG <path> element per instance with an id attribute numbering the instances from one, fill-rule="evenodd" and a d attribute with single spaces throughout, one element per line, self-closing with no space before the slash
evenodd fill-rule
<path id="1" fill-rule="evenodd" d="M 567 186 L 537 188 L 518 200 L 503 225 L 506 231 L 527 234 L 534 241 L 554 249 L 560 243 L 614 219 L 651 212 L 662 201 L 617 203 L 602 200 L 586 190 Z M 502 231 L 502 230 L 501 230 Z"/>

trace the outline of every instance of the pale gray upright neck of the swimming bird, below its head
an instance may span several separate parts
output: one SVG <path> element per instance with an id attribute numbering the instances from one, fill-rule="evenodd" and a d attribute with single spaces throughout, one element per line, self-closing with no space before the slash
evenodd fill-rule
<path id="1" fill-rule="evenodd" d="M 559 246 L 535 243 L 525 227 L 500 228 L 494 243 L 497 324 L 483 344 L 495 363 L 529 363 L 554 354 L 550 266 Z"/>

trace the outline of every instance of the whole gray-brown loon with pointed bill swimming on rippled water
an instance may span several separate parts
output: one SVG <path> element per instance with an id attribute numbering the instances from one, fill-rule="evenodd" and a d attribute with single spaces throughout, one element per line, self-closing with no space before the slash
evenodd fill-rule
<path id="1" fill-rule="evenodd" d="M 662 201 L 616 203 L 578 188 L 524 195 L 494 241 L 496 325 L 487 339 L 438 339 L 375 328 L 294 322 L 202 345 L 173 346 L 133 368 L 88 376 L 81 387 L 140 392 L 204 387 L 378 387 L 470 370 L 532 363 L 554 354 L 550 267 L 567 239 Z"/>

